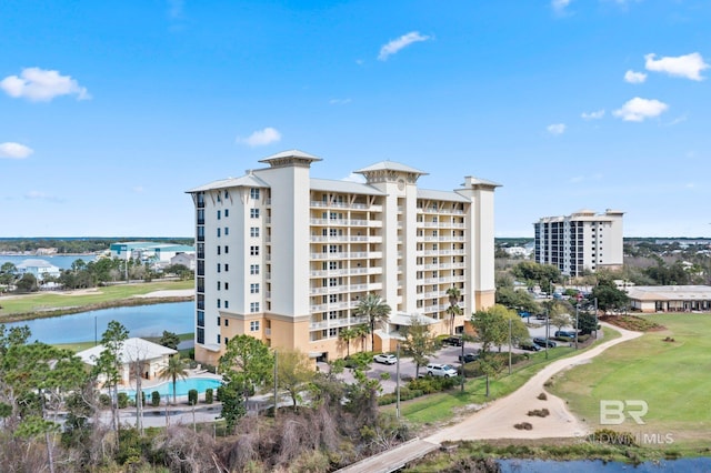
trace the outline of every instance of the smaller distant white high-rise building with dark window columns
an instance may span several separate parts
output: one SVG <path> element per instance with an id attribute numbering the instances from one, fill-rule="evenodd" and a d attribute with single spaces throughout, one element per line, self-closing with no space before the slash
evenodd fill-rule
<path id="1" fill-rule="evenodd" d="M 535 229 L 535 262 L 552 264 L 562 274 L 582 275 L 600 268 L 622 266 L 623 212 L 595 214 L 581 210 L 565 217 L 545 217 Z"/>

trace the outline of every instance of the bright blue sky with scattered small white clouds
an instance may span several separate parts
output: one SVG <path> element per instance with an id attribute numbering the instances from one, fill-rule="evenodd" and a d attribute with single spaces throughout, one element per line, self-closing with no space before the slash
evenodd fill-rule
<path id="1" fill-rule="evenodd" d="M 711 2 L 0 2 L 0 236 L 192 236 L 186 190 L 299 149 L 502 184 L 495 235 L 622 210 L 710 236 Z"/>

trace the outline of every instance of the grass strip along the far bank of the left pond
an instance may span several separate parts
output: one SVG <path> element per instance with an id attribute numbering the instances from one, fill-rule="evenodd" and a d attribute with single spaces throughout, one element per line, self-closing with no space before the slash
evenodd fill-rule
<path id="1" fill-rule="evenodd" d="M 68 294 L 61 292 L 42 292 L 20 296 L 0 298 L 0 322 L 13 320 L 17 314 L 36 314 L 51 309 L 69 309 L 83 305 L 106 304 L 130 299 L 134 295 L 153 291 L 182 290 L 194 288 L 194 281 L 159 281 L 131 284 L 116 284 L 97 288 L 87 293 Z M 39 315 L 36 315 L 39 316 Z"/>

